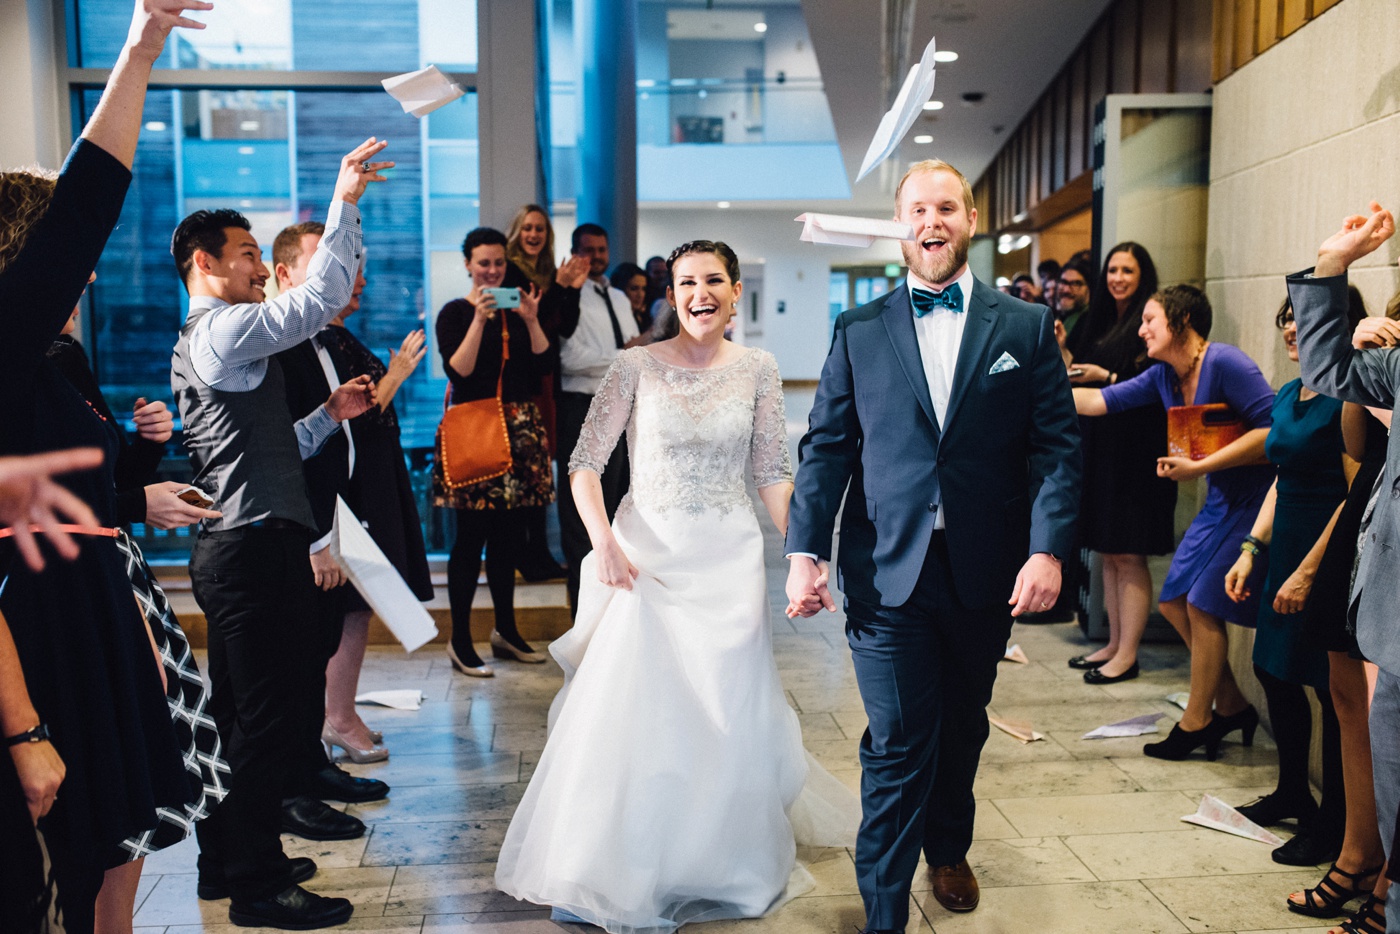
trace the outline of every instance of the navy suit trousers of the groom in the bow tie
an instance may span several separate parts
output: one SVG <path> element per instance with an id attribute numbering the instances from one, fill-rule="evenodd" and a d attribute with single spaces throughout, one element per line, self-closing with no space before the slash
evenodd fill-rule
<path id="1" fill-rule="evenodd" d="M 909 602 L 847 599 L 846 618 L 869 718 L 855 878 L 867 927 L 902 931 L 920 850 L 937 867 L 959 863 L 972 846 L 972 786 L 1011 613 L 1005 604 L 973 609 L 958 599 L 946 538 L 934 532 Z"/>

